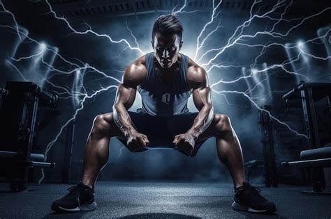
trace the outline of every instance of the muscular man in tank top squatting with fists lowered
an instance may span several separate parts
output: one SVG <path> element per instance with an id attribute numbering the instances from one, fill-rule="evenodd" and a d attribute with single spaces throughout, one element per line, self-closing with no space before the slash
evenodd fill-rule
<path id="1" fill-rule="evenodd" d="M 87 139 L 82 181 L 70 193 L 53 202 L 54 211 L 90 211 L 96 208 L 94 184 L 108 161 L 110 138 L 122 141 L 131 152 L 153 147 L 177 149 L 195 156 L 208 138 L 216 138 L 217 154 L 229 169 L 235 185 L 233 209 L 274 212 L 245 179 L 242 149 L 228 116 L 214 113 L 212 89 L 205 70 L 180 54 L 183 27 L 174 15 L 156 19 L 152 31 L 154 52 L 128 65 L 112 113 L 98 115 Z M 142 108 L 127 111 L 138 89 Z M 198 113 L 190 113 L 187 99 L 193 94 Z"/>

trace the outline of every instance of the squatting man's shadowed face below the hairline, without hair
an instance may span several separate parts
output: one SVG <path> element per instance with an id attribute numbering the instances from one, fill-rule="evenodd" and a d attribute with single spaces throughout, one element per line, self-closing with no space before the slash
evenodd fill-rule
<path id="1" fill-rule="evenodd" d="M 182 47 L 179 35 L 161 35 L 156 33 L 152 44 L 156 60 L 158 60 L 161 67 L 170 68 L 176 63 L 179 49 Z"/>

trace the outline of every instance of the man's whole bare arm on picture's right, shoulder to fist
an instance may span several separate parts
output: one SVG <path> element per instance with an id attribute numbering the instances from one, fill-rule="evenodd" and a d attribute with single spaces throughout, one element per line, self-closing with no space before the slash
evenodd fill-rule
<path id="1" fill-rule="evenodd" d="M 193 125 L 186 133 L 175 136 L 173 143 L 179 151 L 191 154 L 195 141 L 212 123 L 214 109 L 212 106 L 212 88 L 208 86 L 207 73 L 202 67 L 191 67 L 188 72 L 188 82 L 193 93 L 193 102 L 198 108 Z"/>

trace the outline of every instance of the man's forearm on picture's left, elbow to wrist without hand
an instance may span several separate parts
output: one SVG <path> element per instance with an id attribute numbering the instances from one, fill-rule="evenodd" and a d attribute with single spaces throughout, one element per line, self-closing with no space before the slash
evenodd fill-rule
<path id="1" fill-rule="evenodd" d="M 124 106 L 115 104 L 112 106 L 112 115 L 114 117 L 115 124 L 124 136 L 128 136 L 130 133 L 137 132 L 132 125 L 131 118 L 128 115 L 128 111 Z"/>

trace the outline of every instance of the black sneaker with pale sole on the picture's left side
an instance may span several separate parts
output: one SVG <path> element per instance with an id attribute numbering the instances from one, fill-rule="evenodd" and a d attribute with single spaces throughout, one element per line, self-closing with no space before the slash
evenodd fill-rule
<path id="1" fill-rule="evenodd" d="M 94 189 L 80 182 L 68 188 L 69 194 L 56 200 L 52 210 L 57 212 L 93 211 L 96 209 L 94 202 Z"/>

